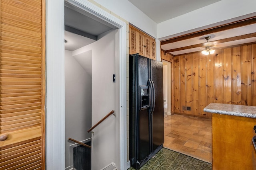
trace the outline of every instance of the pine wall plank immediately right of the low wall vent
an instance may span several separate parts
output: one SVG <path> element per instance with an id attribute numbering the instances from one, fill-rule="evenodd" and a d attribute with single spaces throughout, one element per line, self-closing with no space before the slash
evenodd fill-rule
<path id="1" fill-rule="evenodd" d="M 193 115 L 199 114 L 199 53 L 192 54 L 192 112 Z"/>

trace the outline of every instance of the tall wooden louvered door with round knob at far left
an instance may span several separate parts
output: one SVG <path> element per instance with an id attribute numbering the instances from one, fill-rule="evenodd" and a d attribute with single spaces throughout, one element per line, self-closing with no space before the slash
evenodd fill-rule
<path id="1" fill-rule="evenodd" d="M 0 0 L 0 170 L 44 169 L 44 129 L 45 0 Z"/>

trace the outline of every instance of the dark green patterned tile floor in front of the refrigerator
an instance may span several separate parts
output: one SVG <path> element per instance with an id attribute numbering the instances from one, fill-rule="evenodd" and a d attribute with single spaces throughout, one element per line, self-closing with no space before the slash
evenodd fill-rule
<path id="1" fill-rule="evenodd" d="M 140 170 L 212 170 L 212 164 L 162 148 Z"/>

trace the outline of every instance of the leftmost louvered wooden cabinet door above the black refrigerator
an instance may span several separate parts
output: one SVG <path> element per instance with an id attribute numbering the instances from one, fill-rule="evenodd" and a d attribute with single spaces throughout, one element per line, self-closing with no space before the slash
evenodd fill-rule
<path id="1" fill-rule="evenodd" d="M 139 53 L 138 36 L 136 30 L 129 28 L 129 54 Z"/>

